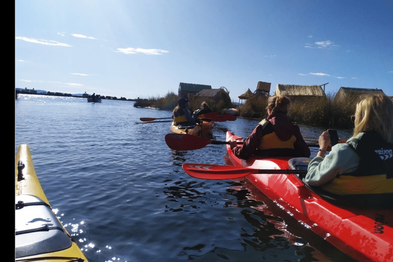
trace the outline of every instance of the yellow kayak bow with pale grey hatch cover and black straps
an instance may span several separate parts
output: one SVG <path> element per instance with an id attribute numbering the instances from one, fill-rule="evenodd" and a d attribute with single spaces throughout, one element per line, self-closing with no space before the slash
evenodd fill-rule
<path id="1" fill-rule="evenodd" d="M 15 157 L 15 261 L 88 261 L 52 211 L 26 144 Z"/>

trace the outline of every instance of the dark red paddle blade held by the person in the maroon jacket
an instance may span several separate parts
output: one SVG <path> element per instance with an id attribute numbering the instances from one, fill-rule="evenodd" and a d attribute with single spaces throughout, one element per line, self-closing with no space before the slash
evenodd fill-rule
<path id="1" fill-rule="evenodd" d="M 210 140 L 188 134 L 166 134 L 165 143 L 173 150 L 195 150 L 210 144 Z"/>

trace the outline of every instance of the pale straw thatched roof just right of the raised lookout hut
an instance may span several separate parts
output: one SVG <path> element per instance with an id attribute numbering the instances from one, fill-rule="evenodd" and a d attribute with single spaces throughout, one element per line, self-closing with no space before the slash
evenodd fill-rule
<path id="1" fill-rule="evenodd" d="M 283 96 L 326 96 L 320 85 L 277 84 L 276 95 Z"/>

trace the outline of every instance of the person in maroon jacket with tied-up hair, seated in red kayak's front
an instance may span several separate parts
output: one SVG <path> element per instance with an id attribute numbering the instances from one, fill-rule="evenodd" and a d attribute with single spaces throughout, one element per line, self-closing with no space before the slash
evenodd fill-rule
<path id="1" fill-rule="evenodd" d="M 271 96 L 268 99 L 268 117 L 258 123 L 243 145 L 230 141 L 234 155 L 248 159 L 253 154 L 271 157 L 310 157 L 300 128 L 287 117 L 290 100 L 286 96 Z"/>

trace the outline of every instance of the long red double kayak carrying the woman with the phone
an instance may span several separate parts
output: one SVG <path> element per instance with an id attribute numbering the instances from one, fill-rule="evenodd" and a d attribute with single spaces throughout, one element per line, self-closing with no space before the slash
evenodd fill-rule
<path id="1" fill-rule="evenodd" d="M 241 140 L 227 132 L 226 141 Z M 255 169 L 291 169 L 289 157 L 258 157 L 241 160 L 227 145 L 234 166 Z M 260 191 L 299 223 L 359 261 L 393 261 L 393 210 L 340 207 L 321 198 L 296 174 L 249 174 Z"/>

